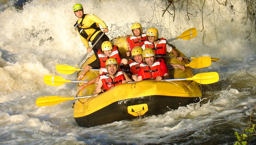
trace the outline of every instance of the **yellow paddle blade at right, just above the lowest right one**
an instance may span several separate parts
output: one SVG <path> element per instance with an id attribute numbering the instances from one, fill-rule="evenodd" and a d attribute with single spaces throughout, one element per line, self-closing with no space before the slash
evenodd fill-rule
<path id="1" fill-rule="evenodd" d="M 198 57 L 194 58 L 189 64 L 185 64 L 185 67 L 191 67 L 194 69 L 206 68 L 211 65 L 210 57 Z"/>

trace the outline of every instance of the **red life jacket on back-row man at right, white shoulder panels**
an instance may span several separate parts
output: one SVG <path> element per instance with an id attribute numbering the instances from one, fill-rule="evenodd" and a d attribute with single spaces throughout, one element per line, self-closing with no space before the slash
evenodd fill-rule
<path id="1" fill-rule="evenodd" d="M 156 47 L 149 41 L 145 41 L 145 48 L 152 48 L 155 52 L 155 55 L 166 56 L 166 39 L 161 38 L 156 44 Z"/>

